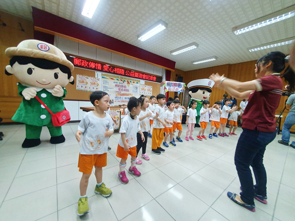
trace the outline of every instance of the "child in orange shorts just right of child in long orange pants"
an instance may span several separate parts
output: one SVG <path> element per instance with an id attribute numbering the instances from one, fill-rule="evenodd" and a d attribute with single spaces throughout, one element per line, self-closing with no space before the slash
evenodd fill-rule
<path id="1" fill-rule="evenodd" d="M 169 144 L 172 146 L 176 146 L 175 142 L 173 142 L 173 124 L 174 124 L 174 122 L 176 123 L 176 121 L 173 119 L 174 118 L 174 106 L 175 106 L 175 104 L 173 101 L 167 102 L 168 110 L 165 112 L 165 120 L 167 122 L 167 125 L 164 128 L 164 132 L 166 135 L 165 135 L 164 142 L 163 142 L 163 145 L 165 147 L 169 147 L 166 142 L 169 135 L 170 135 Z"/>

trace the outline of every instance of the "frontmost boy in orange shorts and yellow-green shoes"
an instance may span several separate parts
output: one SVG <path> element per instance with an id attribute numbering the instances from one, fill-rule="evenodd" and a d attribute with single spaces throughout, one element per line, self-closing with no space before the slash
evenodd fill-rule
<path id="1" fill-rule="evenodd" d="M 112 194 L 102 182 L 102 167 L 107 166 L 109 139 L 114 133 L 112 118 L 104 112 L 110 107 L 110 97 L 104 91 L 95 91 L 90 95 L 90 101 L 95 110 L 84 114 L 76 132 L 78 142 L 84 133 L 78 163 L 79 171 L 83 173 L 80 181 L 78 216 L 89 212 L 86 191 L 93 166 L 97 182 L 94 192 L 104 197 Z"/>

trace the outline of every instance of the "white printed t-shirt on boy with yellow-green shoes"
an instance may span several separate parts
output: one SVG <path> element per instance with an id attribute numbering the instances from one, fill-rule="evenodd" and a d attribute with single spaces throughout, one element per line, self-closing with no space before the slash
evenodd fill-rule
<path id="1" fill-rule="evenodd" d="M 110 140 L 104 137 L 107 128 L 114 131 L 113 120 L 109 114 L 99 118 L 93 111 L 85 113 L 78 126 L 78 130 L 84 133 L 80 153 L 86 155 L 107 153 Z"/>

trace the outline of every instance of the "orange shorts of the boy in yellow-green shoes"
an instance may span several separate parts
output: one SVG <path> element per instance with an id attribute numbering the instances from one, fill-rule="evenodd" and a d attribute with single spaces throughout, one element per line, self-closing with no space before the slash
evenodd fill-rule
<path id="1" fill-rule="evenodd" d="M 78 162 L 79 171 L 90 174 L 92 173 L 93 166 L 97 166 L 97 167 L 107 166 L 107 155 L 108 153 L 93 154 L 93 155 L 79 154 L 79 162 Z"/>

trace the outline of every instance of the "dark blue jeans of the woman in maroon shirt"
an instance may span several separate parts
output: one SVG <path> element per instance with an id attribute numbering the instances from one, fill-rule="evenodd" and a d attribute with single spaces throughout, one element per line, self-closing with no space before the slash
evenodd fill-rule
<path id="1" fill-rule="evenodd" d="M 241 199 L 246 204 L 254 205 L 254 194 L 266 196 L 266 169 L 263 157 L 266 145 L 274 140 L 276 131 L 259 132 L 243 128 L 235 153 L 235 165 L 241 184 Z M 253 168 L 256 185 L 253 188 L 253 178 L 250 170 Z"/>

